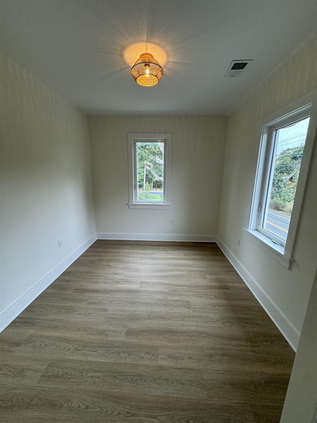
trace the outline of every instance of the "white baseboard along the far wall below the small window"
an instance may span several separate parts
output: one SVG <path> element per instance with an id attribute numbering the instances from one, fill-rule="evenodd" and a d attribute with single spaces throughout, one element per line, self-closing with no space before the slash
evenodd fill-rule
<path id="1" fill-rule="evenodd" d="M 170 234 L 112 234 L 97 233 L 98 240 L 123 241 L 175 241 L 175 242 L 216 242 L 215 235 L 170 235 Z"/>

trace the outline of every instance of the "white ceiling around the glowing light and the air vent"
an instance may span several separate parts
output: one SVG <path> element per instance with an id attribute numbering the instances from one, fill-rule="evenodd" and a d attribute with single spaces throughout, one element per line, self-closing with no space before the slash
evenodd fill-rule
<path id="1" fill-rule="evenodd" d="M 228 114 L 317 30 L 316 0 L 0 0 L 0 16 L 1 50 L 89 115 Z M 167 55 L 154 87 L 123 58 L 140 42 Z"/>

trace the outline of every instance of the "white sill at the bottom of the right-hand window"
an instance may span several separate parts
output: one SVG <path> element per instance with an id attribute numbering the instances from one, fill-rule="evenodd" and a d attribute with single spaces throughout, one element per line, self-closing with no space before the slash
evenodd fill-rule
<path id="1" fill-rule="evenodd" d="M 291 267 L 291 263 L 294 259 L 285 254 L 285 248 L 282 245 L 274 244 L 269 238 L 265 237 L 265 235 L 261 234 L 259 231 L 244 228 L 244 232 L 250 241 L 262 248 L 267 254 L 286 267 L 286 269 Z"/>

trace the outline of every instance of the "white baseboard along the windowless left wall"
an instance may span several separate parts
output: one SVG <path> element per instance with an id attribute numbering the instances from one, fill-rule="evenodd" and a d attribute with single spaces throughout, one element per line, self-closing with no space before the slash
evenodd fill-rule
<path id="1" fill-rule="evenodd" d="M 12 322 L 32 301 L 54 282 L 91 244 L 97 240 L 96 234 L 75 249 L 59 263 L 51 272 L 37 282 L 32 288 L 0 313 L 0 332 Z"/>

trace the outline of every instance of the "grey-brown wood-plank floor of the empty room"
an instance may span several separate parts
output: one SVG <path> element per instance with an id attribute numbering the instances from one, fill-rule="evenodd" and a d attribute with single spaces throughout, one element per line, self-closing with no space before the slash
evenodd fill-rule
<path id="1" fill-rule="evenodd" d="M 216 244 L 97 241 L 0 357 L 1 423 L 277 423 L 294 353 Z"/>

